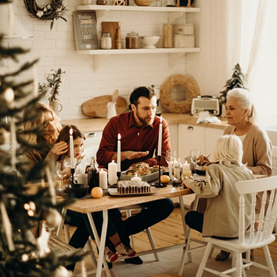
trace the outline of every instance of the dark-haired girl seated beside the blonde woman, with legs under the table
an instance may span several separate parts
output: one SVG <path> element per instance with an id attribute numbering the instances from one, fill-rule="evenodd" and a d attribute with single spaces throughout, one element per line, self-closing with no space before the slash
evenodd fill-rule
<path id="1" fill-rule="evenodd" d="M 73 129 L 74 159 L 75 161 L 78 161 L 79 159 L 81 159 L 81 161 L 79 161 L 78 164 L 75 166 L 75 173 L 77 175 L 77 174 L 85 173 L 88 170 L 88 164 L 84 159 L 84 157 L 82 157 L 82 152 L 84 150 L 83 145 L 84 145 L 84 139 L 85 139 L 84 134 L 82 134 L 82 132 L 75 125 L 66 125 L 60 131 L 60 136 L 57 138 L 57 143 L 59 141 L 65 141 L 69 145 L 69 130 L 71 128 Z M 65 154 L 62 154 L 60 157 L 58 157 L 58 160 L 62 160 L 62 161 L 70 160 L 70 151 L 67 151 Z M 68 177 L 70 176 L 71 176 L 71 172 L 69 169 Z M 87 242 L 89 235 L 91 235 L 91 238 L 93 238 L 93 233 L 91 231 L 91 226 L 89 224 L 87 215 L 70 211 L 70 210 L 67 211 L 66 215 L 69 217 L 69 219 L 66 220 L 67 224 L 72 224 L 73 226 L 76 226 L 76 222 L 78 222 L 78 231 L 77 232 L 75 231 L 74 235 L 71 237 L 69 244 L 75 248 L 84 247 L 84 244 Z M 105 247 L 105 256 L 108 262 L 114 262 L 118 258 L 118 255 L 120 256 L 127 255 L 129 257 L 133 257 L 136 255 L 136 251 L 134 251 L 134 249 L 125 247 L 125 245 L 121 242 L 118 236 L 118 233 L 116 231 L 116 228 L 114 226 L 112 215 L 113 215 L 113 211 L 109 210 L 106 244 L 108 245 L 112 244 L 112 247 L 116 249 L 116 253 L 112 252 L 107 246 Z M 102 229 L 102 212 L 92 213 L 92 216 L 96 224 L 98 235 L 100 236 L 101 229 Z M 82 227 L 81 225 L 84 225 L 84 226 Z M 70 269 L 72 269 L 72 267 Z"/>

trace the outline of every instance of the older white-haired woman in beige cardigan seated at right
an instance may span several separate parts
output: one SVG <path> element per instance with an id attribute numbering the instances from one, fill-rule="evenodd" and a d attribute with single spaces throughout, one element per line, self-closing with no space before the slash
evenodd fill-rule
<path id="1" fill-rule="evenodd" d="M 251 102 L 250 93 L 245 89 L 231 89 L 227 93 L 226 117 L 229 126 L 224 134 L 234 134 L 242 141 L 242 163 L 252 170 L 253 174 L 271 175 L 271 141 L 267 133 L 256 124 L 256 110 Z M 204 156 L 199 165 L 209 163 Z M 257 201 L 260 201 L 258 195 Z M 204 202 L 197 207 L 197 211 L 204 208 Z M 221 251 L 215 260 L 226 260 L 228 252 Z"/>

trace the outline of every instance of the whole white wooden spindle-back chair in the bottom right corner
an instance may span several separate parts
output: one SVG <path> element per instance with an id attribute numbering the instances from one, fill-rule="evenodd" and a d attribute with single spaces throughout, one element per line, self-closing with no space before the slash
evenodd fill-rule
<path id="1" fill-rule="evenodd" d="M 277 217 L 277 176 L 267 177 L 263 179 L 253 179 L 249 181 L 238 181 L 235 183 L 235 188 L 240 194 L 240 211 L 239 211 L 239 237 L 238 239 L 219 240 L 212 237 L 204 238 L 207 242 L 206 250 L 199 265 L 196 277 L 202 276 L 204 271 L 211 272 L 217 276 L 229 276 L 235 272 L 235 276 L 239 277 L 244 274 L 244 269 L 250 266 L 260 267 L 269 271 L 271 277 L 276 277 L 274 265 L 271 260 L 268 245 L 274 242 L 275 236 L 272 235 L 274 224 Z M 256 220 L 256 194 L 262 192 L 262 207 L 258 220 Z M 269 192 L 269 203 L 266 207 L 267 192 Z M 244 195 L 251 194 L 251 214 L 244 213 Z M 244 217 L 249 216 L 251 225 L 249 229 L 244 226 Z M 255 230 L 255 221 L 258 221 L 258 229 Z M 247 231 L 246 231 L 247 229 Z M 206 267 L 208 255 L 213 247 L 227 249 L 233 253 L 232 268 L 220 272 L 215 269 Z M 249 252 L 251 249 L 262 248 L 265 253 L 267 266 L 260 265 L 258 262 L 252 262 L 249 259 L 242 258 L 242 253 Z"/>

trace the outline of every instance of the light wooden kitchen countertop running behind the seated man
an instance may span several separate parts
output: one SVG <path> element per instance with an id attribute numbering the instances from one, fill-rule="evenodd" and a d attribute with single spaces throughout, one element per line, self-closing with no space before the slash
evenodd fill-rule
<path id="1" fill-rule="evenodd" d="M 191 114 L 170 114 L 163 113 L 163 118 L 166 119 L 169 125 L 171 124 L 186 124 L 197 125 L 197 118 Z M 224 129 L 227 125 L 226 118 L 220 118 L 221 123 L 201 123 L 197 126 L 211 127 L 216 129 Z M 82 132 L 96 132 L 102 131 L 109 120 L 107 118 L 82 118 L 75 120 L 62 120 L 62 124 L 76 125 Z"/>

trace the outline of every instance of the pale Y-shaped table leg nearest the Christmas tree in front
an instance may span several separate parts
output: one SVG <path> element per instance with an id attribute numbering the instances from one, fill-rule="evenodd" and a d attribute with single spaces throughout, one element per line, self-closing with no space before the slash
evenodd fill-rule
<path id="1" fill-rule="evenodd" d="M 106 235 L 107 235 L 108 211 L 103 210 L 103 224 L 102 224 L 102 232 L 101 232 L 100 240 L 99 240 L 96 226 L 93 222 L 91 213 L 87 213 L 87 217 L 89 218 L 89 223 L 91 224 L 91 229 L 93 231 L 93 235 L 94 235 L 94 238 L 96 240 L 96 244 L 97 244 L 98 250 L 99 250 L 97 269 L 96 269 L 96 277 L 100 277 L 101 272 L 102 272 L 102 264 L 103 264 L 103 259 L 104 259 L 104 248 L 105 248 L 105 241 L 106 241 Z"/>

